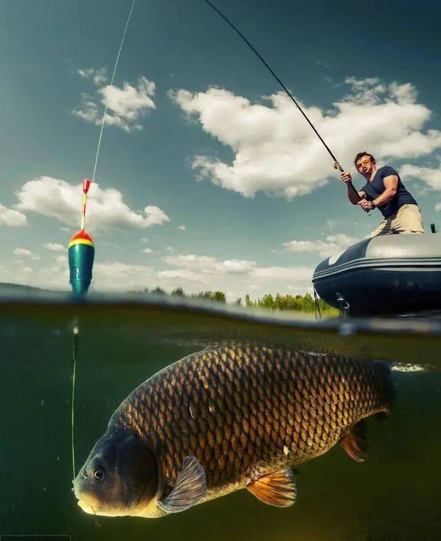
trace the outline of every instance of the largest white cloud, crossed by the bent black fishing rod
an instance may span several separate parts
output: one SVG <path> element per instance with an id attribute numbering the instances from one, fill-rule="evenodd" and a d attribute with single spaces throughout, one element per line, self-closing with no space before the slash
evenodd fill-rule
<path id="1" fill-rule="evenodd" d="M 330 112 L 301 104 L 342 165 L 368 149 L 384 158 L 417 158 L 441 147 L 441 131 L 422 131 L 431 111 L 417 103 L 410 83 L 382 83 L 378 78 L 349 77 L 347 96 Z M 196 156 L 197 178 L 253 196 L 269 191 L 293 198 L 321 187 L 329 178 L 331 159 L 298 109 L 282 92 L 251 103 L 225 89 L 170 92 L 183 112 L 198 120 L 207 134 L 232 149 L 231 163 Z"/>

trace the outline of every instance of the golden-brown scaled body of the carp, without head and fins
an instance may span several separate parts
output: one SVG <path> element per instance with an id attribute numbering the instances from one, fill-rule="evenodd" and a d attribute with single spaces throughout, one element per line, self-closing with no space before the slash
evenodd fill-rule
<path id="1" fill-rule="evenodd" d="M 196 456 L 209 499 L 322 454 L 386 402 L 376 363 L 220 345 L 145 381 L 109 428 L 138 432 L 156 453 L 165 487 L 174 486 L 185 457 Z"/>

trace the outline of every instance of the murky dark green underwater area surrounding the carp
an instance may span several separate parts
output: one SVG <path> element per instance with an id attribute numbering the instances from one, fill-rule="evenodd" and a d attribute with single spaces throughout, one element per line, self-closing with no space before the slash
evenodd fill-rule
<path id="1" fill-rule="evenodd" d="M 369 459 L 339 446 L 300 465 L 289 509 L 247 491 L 160 519 L 94 517 L 72 488 L 72 325 L 76 368 L 76 469 L 121 401 L 142 381 L 215 341 L 334 350 L 402 363 L 386 421 L 369 420 Z M 387 328 L 384 328 L 384 327 Z M 389 328 L 390 327 L 390 328 Z M 185 306 L 0 299 L 0 535 L 68 534 L 72 540 L 441 539 L 440 328 L 429 322 L 328 326 L 241 319 Z M 416 371 L 409 370 L 418 364 Z"/>

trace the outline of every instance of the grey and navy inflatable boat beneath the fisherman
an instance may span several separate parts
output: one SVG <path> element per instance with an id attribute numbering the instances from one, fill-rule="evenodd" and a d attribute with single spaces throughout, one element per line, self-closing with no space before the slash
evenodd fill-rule
<path id="1" fill-rule="evenodd" d="M 324 301 L 351 315 L 441 310 L 441 235 L 382 235 L 322 261 L 312 277 Z"/>

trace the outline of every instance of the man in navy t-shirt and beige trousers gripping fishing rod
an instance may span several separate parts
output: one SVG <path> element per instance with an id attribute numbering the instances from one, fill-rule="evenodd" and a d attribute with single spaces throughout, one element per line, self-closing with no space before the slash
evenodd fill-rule
<path id="1" fill-rule="evenodd" d="M 416 200 L 404 187 L 398 172 L 385 165 L 377 169 L 375 158 L 369 152 L 359 152 L 353 160 L 358 173 L 366 179 L 365 186 L 355 193 L 347 186 L 347 195 L 352 204 L 358 204 L 364 211 L 378 207 L 384 220 L 371 236 L 391 233 L 424 233 L 421 213 Z M 349 171 L 341 175 L 343 182 L 351 182 Z"/>

